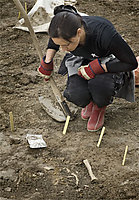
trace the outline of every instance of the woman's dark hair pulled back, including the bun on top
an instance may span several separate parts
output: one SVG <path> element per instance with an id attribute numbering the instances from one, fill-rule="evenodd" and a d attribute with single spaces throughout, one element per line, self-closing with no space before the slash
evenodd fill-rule
<path id="1" fill-rule="evenodd" d="M 48 30 L 51 38 L 61 37 L 69 41 L 70 38 L 76 36 L 78 28 L 83 25 L 82 17 L 73 6 L 57 6 L 54 9 L 54 15 Z"/>

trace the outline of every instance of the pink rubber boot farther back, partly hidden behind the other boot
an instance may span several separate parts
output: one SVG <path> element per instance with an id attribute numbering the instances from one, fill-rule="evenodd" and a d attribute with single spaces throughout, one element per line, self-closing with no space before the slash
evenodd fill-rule
<path id="1" fill-rule="evenodd" d="M 91 101 L 85 108 L 82 108 L 81 118 L 83 120 L 88 119 L 92 113 L 93 102 Z"/>

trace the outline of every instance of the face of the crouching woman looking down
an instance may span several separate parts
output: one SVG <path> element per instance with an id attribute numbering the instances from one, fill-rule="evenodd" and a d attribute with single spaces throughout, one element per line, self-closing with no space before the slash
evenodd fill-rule
<path id="1" fill-rule="evenodd" d="M 69 41 L 63 38 L 52 38 L 53 42 L 57 45 L 60 45 L 63 51 L 74 51 L 80 43 L 81 31 L 77 30 L 75 37 L 72 37 Z"/>

